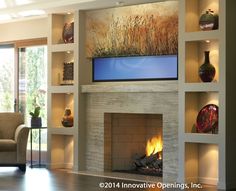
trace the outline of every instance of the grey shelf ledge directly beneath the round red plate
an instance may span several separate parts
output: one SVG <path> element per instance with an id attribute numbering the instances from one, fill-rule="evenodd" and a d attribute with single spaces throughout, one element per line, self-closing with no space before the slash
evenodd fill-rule
<path id="1" fill-rule="evenodd" d="M 200 134 L 200 133 L 185 133 L 184 142 L 186 143 L 206 143 L 219 144 L 218 134 Z"/>

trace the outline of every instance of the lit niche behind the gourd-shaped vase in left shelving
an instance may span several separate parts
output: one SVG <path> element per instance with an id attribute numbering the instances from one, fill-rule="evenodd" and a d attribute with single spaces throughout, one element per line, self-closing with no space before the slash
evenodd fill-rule
<path id="1" fill-rule="evenodd" d="M 74 94 L 73 93 L 53 93 L 52 94 L 52 127 L 61 128 L 62 117 L 65 113 L 65 109 L 71 109 L 71 113 L 74 116 Z"/>

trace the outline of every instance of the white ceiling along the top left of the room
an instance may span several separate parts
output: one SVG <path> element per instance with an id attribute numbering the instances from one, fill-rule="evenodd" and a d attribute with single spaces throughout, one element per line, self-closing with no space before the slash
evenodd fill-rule
<path id="1" fill-rule="evenodd" d="M 0 24 L 50 13 L 125 6 L 161 0 L 0 0 Z M 163 0 L 162 0 L 163 1 Z"/>

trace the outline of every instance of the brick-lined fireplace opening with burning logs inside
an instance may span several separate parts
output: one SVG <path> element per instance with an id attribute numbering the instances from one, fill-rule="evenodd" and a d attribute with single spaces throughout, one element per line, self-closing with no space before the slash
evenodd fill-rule
<path id="1" fill-rule="evenodd" d="M 107 171 L 162 175 L 161 114 L 105 113 Z"/>

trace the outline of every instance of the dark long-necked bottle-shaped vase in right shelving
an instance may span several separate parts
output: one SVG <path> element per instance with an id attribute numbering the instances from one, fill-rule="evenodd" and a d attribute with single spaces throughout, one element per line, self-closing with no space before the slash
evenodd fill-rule
<path id="1" fill-rule="evenodd" d="M 211 82 L 215 77 L 215 67 L 210 63 L 210 51 L 205 51 L 205 61 L 199 68 L 199 77 L 203 82 Z"/>

